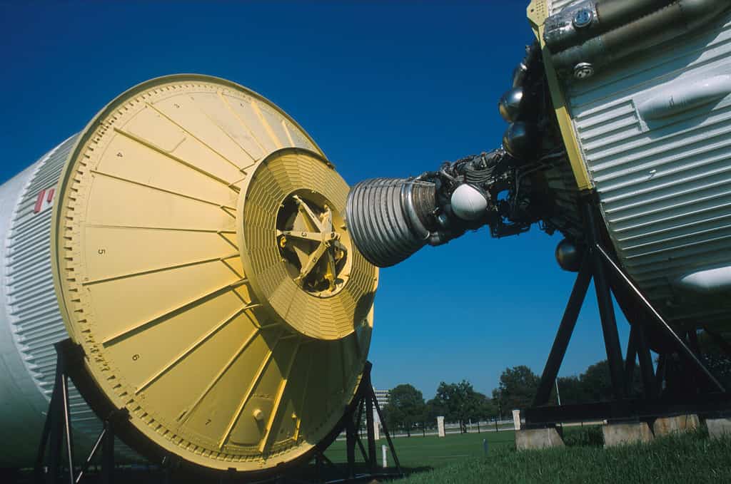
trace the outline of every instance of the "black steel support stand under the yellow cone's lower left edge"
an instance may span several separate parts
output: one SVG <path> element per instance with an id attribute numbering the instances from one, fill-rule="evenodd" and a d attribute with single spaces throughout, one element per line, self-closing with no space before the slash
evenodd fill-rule
<path id="1" fill-rule="evenodd" d="M 77 473 L 74 459 L 71 412 L 69 409 L 69 378 L 72 377 L 73 365 L 82 364 L 82 362 L 80 361 L 78 347 L 69 339 L 56 343 L 54 347 L 56 347 L 56 380 L 53 384 L 53 393 L 51 393 L 48 413 L 46 414 L 45 425 L 38 446 L 34 468 L 35 482 L 37 484 L 79 483 L 88 472 L 94 456 L 101 449 L 101 480 L 104 484 L 111 484 L 114 479 L 113 425 L 117 418 L 126 418 L 126 415 L 113 414 L 104 420 L 102 432 Z M 50 447 L 48 463 L 46 463 L 47 447 Z M 65 466 L 64 459 L 66 461 Z"/>

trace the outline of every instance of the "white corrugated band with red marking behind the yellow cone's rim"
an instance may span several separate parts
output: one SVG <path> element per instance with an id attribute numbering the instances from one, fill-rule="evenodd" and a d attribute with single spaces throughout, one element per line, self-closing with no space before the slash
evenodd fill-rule
<path id="1" fill-rule="evenodd" d="M 51 206 L 76 138 L 62 142 L 37 163 L 12 214 L 4 261 L 7 312 L 15 345 L 28 374 L 49 402 L 56 375 L 53 344 L 68 337 L 50 267 Z M 75 431 L 90 439 L 96 437 L 102 424 L 73 385 L 69 385 L 69 404 Z M 118 453 L 127 459 L 136 457 L 126 446 L 120 446 Z"/>

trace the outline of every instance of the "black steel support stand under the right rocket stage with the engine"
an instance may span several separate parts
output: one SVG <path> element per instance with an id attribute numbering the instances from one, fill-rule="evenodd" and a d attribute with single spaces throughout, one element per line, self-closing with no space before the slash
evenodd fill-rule
<path id="1" fill-rule="evenodd" d="M 599 316 L 602 323 L 602 334 L 604 335 L 607 363 L 610 369 L 613 394 L 616 399 L 615 402 L 609 403 L 614 403 L 616 405 L 614 407 L 602 407 L 602 404 L 594 404 L 594 406 L 591 407 L 590 404 L 589 407 L 594 409 L 590 409 L 591 412 L 608 412 L 607 409 L 610 409 L 612 410 L 611 413 L 613 415 L 618 415 L 617 412 L 623 408 L 632 412 L 645 412 L 647 408 L 656 410 L 657 408 L 662 407 L 656 403 L 648 404 L 649 406 L 644 405 L 642 402 L 636 402 L 635 400 L 632 400 L 632 404 L 628 403 L 630 402 L 629 400 L 626 401 L 626 404 L 624 405 L 618 404 L 632 393 L 632 384 L 635 380 L 636 361 L 639 361 L 645 400 L 650 402 L 651 400 L 654 401 L 661 396 L 662 384 L 667 372 L 668 361 L 665 354 L 660 355 L 657 371 L 654 371 L 650 348 L 646 341 L 648 325 L 651 323 L 655 324 L 654 330 L 659 331 L 660 334 L 663 334 L 664 337 L 667 337 L 669 341 L 674 343 L 678 354 L 684 361 L 687 361 L 690 364 L 697 374 L 702 375 L 703 380 L 707 380 L 716 391 L 720 391 L 721 393 L 725 392 L 723 385 L 716 380 L 716 377 L 711 374 L 708 368 L 700 360 L 700 353 L 697 351 L 695 333 L 692 332 L 692 334 L 688 334 L 687 338 L 685 334 L 683 334 L 683 337 L 679 336 L 678 333 L 664 320 L 664 318 L 662 318 L 662 315 L 660 315 L 659 312 L 652 307 L 650 302 L 645 298 L 645 296 L 643 296 L 637 286 L 632 283 L 632 280 L 630 280 L 626 274 L 624 274 L 622 269 L 603 247 L 602 228 L 599 224 L 599 218 L 601 215 L 599 214 L 596 203 L 596 196 L 585 196 L 580 201 L 580 204 L 583 210 L 585 233 L 587 236 L 585 254 L 577 274 L 571 296 L 569 296 L 566 310 L 564 310 L 564 316 L 561 318 L 561 323 L 558 326 L 556 339 L 553 342 L 548 360 L 546 361 L 545 368 L 543 369 L 538 391 L 533 402 L 533 408 L 526 409 L 526 422 L 529 423 L 529 426 L 531 423 L 538 426 L 542 423 L 548 424 L 550 422 L 546 419 L 553 418 L 553 416 L 558 416 L 562 413 L 568 414 L 574 411 L 577 412 L 577 415 L 582 413 L 586 414 L 586 412 L 577 405 L 564 406 L 567 407 L 564 412 L 559 411 L 557 408 L 548 409 L 548 407 L 546 407 L 545 411 L 543 411 L 539 407 L 548 404 L 553 384 L 558 376 L 558 369 L 560 369 L 561 362 L 564 360 L 569 340 L 571 339 L 576 326 L 579 312 L 584 299 L 586 299 L 588 285 L 592 279 L 594 280 L 594 288 L 596 290 L 596 302 L 599 306 Z M 623 356 L 622 354 L 612 300 L 612 293 L 617 293 L 617 291 L 620 290 L 624 295 L 629 294 L 629 296 L 634 300 L 637 307 L 640 308 L 638 310 L 638 314 L 646 314 L 649 317 L 649 320 L 645 321 L 642 317 L 637 318 L 635 317 L 636 315 L 627 315 L 627 319 L 632 325 L 632 329 L 629 336 L 626 356 Z M 714 335 L 711 334 L 711 337 L 713 336 Z M 726 346 L 728 345 L 726 344 Z M 696 348 L 696 350 L 694 350 L 694 348 Z M 731 347 L 729 350 L 731 351 Z M 727 404 L 724 402 L 730 400 L 731 396 L 728 393 L 725 393 L 724 396 L 720 396 L 719 399 L 716 399 L 713 402 L 721 402 L 718 405 L 723 406 L 724 404 Z M 708 401 L 711 402 L 711 400 Z M 699 402 L 699 404 L 703 404 L 703 402 Z M 586 408 L 589 409 L 589 407 Z M 594 413 L 591 415 L 594 415 Z"/>

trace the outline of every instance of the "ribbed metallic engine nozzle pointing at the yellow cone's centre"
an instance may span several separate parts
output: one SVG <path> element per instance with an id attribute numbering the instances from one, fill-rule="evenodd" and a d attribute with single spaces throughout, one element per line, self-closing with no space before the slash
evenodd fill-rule
<path id="1" fill-rule="evenodd" d="M 371 264 L 393 266 L 427 243 L 426 215 L 435 205 L 433 183 L 365 180 L 348 194 L 346 223 L 355 246 Z"/>

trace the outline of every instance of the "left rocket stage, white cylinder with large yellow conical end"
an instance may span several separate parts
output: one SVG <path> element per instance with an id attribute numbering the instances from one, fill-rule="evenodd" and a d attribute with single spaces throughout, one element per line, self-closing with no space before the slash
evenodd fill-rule
<path id="1" fill-rule="evenodd" d="M 378 278 L 344 224 L 348 189 L 282 110 L 195 74 L 126 91 L 2 185 L 0 427 L 15 437 L 0 465 L 32 463 L 67 338 L 148 456 L 266 472 L 333 438 Z"/>

